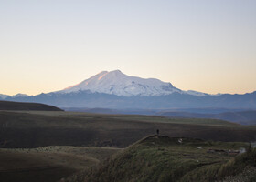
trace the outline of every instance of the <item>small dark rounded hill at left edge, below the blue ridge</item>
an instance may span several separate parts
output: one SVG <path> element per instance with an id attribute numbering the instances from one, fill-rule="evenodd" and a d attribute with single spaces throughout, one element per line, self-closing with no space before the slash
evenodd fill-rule
<path id="1" fill-rule="evenodd" d="M 56 106 L 48 106 L 39 103 L 0 101 L 0 110 L 21 110 L 21 111 L 62 111 Z"/>

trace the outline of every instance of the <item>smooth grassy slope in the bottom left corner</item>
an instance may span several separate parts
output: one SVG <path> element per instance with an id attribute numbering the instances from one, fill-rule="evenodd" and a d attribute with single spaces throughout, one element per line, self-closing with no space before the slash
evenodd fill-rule
<path id="1" fill-rule="evenodd" d="M 56 182 L 95 166 L 119 148 L 50 146 L 0 148 L 0 181 Z"/>

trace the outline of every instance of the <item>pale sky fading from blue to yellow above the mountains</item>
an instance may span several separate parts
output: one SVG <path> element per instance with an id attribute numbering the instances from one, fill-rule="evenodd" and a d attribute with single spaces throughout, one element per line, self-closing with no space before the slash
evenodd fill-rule
<path id="1" fill-rule="evenodd" d="M 0 0 L 0 94 L 103 70 L 211 94 L 256 90 L 255 0 Z"/>

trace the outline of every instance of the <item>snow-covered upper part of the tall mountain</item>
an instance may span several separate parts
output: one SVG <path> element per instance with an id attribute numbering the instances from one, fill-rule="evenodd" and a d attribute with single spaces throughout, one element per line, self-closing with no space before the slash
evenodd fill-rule
<path id="1" fill-rule="evenodd" d="M 127 76 L 120 70 L 102 71 L 82 81 L 75 86 L 69 86 L 62 93 L 89 90 L 92 93 L 112 94 L 116 96 L 163 96 L 184 91 L 171 83 L 162 82 L 155 78 L 140 78 Z"/>

